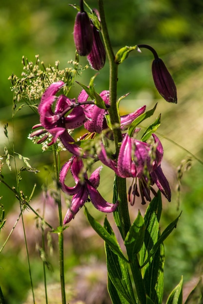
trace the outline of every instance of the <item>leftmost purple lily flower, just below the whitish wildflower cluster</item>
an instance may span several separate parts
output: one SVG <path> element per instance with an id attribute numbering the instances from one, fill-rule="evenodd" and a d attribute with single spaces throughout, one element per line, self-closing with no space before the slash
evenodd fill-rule
<path id="1" fill-rule="evenodd" d="M 40 124 L 33 127 L 42 129 L 34 131 L 30 136 L 39 136 L 46 134 L 37 143 L 42 143 L 48 137 L 47 132 L 53 136 L 49 146 L 56 142 L 59 137 L 64 147 L 75 155 L 81 155 L 81 149 L 74 144 L 74 138 L 68 133 L 67 129 L 75 129 L 80 127 L 87 119 L 85 109 L 77 105 L 75 99 L 69 99 L 65 95 L 55 94 L 64 86 L 62 81 L 51 84 L 44 92 L 38 106 L 40 116 Z M 55 103 L 56 102 L 56 103 Z M 52 106 L 55 103 L 55 111 Z M 69 111 L 72 112 L 67 115 Z M 65 116 L 67 115 L 67 116 Z"/>

